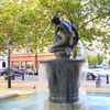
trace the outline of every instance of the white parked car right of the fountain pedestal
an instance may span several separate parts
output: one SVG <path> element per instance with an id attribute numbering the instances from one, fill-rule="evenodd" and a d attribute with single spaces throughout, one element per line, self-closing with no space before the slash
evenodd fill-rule
<path id="1" fill-rule="evenodd" d="M 98 75 L 107 76 L 110 75 L 110 72 L 102 68 L 87 69 L 87 80 L 95 80 L 97 79 Z"/>

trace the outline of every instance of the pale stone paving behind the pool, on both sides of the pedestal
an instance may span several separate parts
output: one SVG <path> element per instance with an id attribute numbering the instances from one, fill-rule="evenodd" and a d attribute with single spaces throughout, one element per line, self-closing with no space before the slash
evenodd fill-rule
<path id="1" fill-rule="evenodd" d="M 8 80 L 0 78 L 0 99 L 10 98 L 18 95 L 36 94 L 46 91 L 47 81 L 42 80 L 12 80 L 12 87 L 8 88 Z M 110 94 L 110 84 L 102 82 L 99 88 L 96 81 L 85 80 L 80 85 L 80 92 Z"/>

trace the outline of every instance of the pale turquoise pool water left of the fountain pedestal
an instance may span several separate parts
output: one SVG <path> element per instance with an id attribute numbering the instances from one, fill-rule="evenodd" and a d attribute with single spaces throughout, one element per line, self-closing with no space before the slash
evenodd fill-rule
<path id="1" fill-rule="evenodd" d="M 37 94 L 0 101 L 0 110 L 43 110 L 47 95 Z"/>

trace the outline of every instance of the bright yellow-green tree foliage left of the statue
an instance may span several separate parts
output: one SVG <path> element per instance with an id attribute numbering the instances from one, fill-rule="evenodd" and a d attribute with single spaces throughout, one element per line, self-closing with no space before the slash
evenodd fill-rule
<path id="1" fill-rule="evenodd" d="M 35 51 L 36 45 L 44 47 L 50 42 L 41 43 L 41 37 L 46 29 L 45 16 L 42 9 L 37 8 L 37 2 L 26 1 L 2 1 L 0 4 L 0 45 L 1 50 L 6 50 L 6 41 L 12 41 L 13 45 L 18 47 L 22 45 Z M 48 21 L 50 22 L 50 21 Z M 48 37 L 45 37 L 47 41 Z M 38 41 L 40 40 L 40 41 Z M 42 38 L 44 40 L 44 38 Z"/>

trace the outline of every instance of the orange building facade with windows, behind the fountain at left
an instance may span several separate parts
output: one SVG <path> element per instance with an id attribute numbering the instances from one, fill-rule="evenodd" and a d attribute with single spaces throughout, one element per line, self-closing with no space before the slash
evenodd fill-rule
<path id="1" fill-rule="evenodd" d="M 37 69 L 40 61 L 51 59 L 55 56 L 51 53 L 42 54 L 11 54 L 10 67 L 18 69 Z"/>

